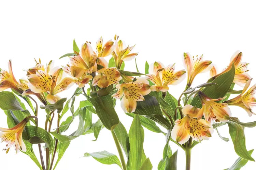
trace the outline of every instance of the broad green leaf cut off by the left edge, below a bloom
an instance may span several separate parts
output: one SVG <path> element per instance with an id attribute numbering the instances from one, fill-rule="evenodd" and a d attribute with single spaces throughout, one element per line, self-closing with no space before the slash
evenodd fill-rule
<path id="1" fill-rule="evenodd" d="M 0 92 L 0 108 L 6 110 L 23 110 L 22 106 L 16 99 L 15 95 L 10 91 Z"/>

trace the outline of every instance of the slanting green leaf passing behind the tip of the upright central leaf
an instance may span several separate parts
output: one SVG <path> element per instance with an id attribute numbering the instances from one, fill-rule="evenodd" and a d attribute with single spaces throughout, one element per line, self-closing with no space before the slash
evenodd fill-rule
<path id="1" fill-rule="evenodd" d="M 134 117 L 133 113 L 126 113 L 126 115 Z M 146 118 L 142 115 L 139 115 L 139 116 L 140 116 L 140 121 L 142 126 L 144 126 L 145 128 L 147 128 L 152 132 L 163 133 L 163 131 L 161 131 L 161 129 L 156 125 L 156 123 L 153 120 Z"/>

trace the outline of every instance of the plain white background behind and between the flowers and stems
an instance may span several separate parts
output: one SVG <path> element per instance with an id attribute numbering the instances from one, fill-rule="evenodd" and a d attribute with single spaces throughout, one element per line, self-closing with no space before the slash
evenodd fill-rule
<path id="1" fill-rule="evenodd" d="M 67 58 L 58 58 L 72 52 L 73 38 L 79 46 L 86 40 L 94 46 L 100 36 L 107 41 L 118 34 L 127 45 L 136 44 L 134 52 L 139 52 L 137 62 L 141 72 L 145 61 L 152 63 L 155 60 L 165 65 L 176 63 L 176 70 L 184 69 L 183 52 L 203 54 L 221 71 L 228 65 L 231 55 L 241 50 L 243 61 L 250 63 L 248 73 L 254 78 L 255 15 L 255 5 L 250 1 L 0 1 L 0 67 L 7 69 L 8 60 L 12 59 L 15 77 L 25 78 L 26 72 L 22 70 L 34 65 L 33 58 L 40 57 L 43 63 L 53 59 L 55 65 L 65 65 Z M 135 71 L 135 61 L 126 62 L 125 69 Z M 193 85 L 204 83 L 208 78 L 209 73 L 200 74 Z M 169 92 L 179 97 L 184 87 L 185 81 L 171 86 Z M 235 88 L 241 89 L 239 86 Z M 75 87 L 60 95 L 70 97 L 73 89 Z M 255 116 L 248 117 L 241 108 L 230 108 L 232 115 L 242 122 L 256 120 Z M 116 111 L 128 131 L 132 118 L 124 114 L 119 102 Z M 2 111 L 0 113 L 0 126 L 7 127 L 6 116 Z M 43 126 L 45 114 L 41 110 L 39 115 Z M 77 122 L 75 120 L 65 134 L 73 132 Z M 144 130 L 144 150 L 155 170 L 162 158 L 165 136 Z M 227 126 L 219 131 L 230 138 Z M 245 128 L 248 150 L 256 149 L 255 132 L 256 128 Z M 110 131 L 103 129 L 97 141 L 91 140 L 94 140 L 92 134 L 73 140 L 56 169 L 119 169 L 117 165 L 103 165 L 91 157 L 82 157 L 85 152 L 102 150 L 118 154 Z M 170 145 L 173 152 L 178 149 L 174 143 Z M 0 144 L 0 148 L 4 146 L 4 143 Z M 34 150 L 38 153 L 36 146 Z M 256 158 L 256 151 L 252 156 Z M 13 149 L 8 154 L 0 152 L 0 158 L 1 169 L 37 169 L 28 156 L 15 155 Z M 202 141 L 192 150 L 191 169 L 225 169 L 237 158 L 232 141 L 221 140 L 215 131 L 209 141 Z M 253 170 L 255 167 L 255 162 L 248 162 L 243 169 Z M 185 154 L 179 149 L 177 169 L 184 168 Z"/>

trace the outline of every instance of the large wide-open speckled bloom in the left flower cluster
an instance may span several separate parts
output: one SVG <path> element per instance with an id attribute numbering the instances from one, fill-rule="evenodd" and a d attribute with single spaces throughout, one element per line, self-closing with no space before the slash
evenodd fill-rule
<path id="1" fill-rule="evenodd" d="M 62 68 L 49 73 L 38 70 L 35 74 L 29 75 L 28 87 L 35 93 L 47 92 L 46 99 L 49 103 L 54 104 L 60 99 L 56 94 L 68 89 L 74 83 L 74 80 L 70 77 L 62 79 L 62 75 Z"/>

